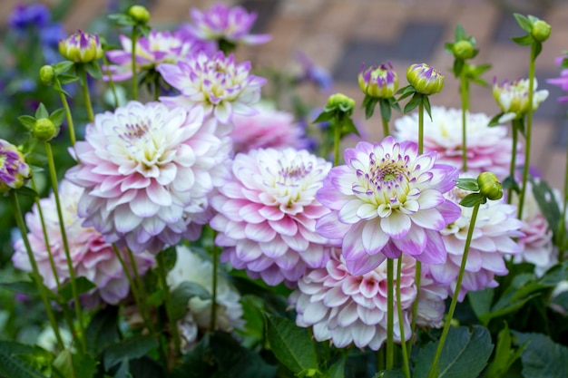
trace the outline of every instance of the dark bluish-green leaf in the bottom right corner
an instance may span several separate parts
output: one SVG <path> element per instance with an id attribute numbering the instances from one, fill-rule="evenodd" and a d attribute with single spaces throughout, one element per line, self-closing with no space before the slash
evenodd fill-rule
<path id="1" fill-rule="evenodd" d="M 521 354 L 524 378 L 568 377 L 568 348 L 554 343 L 544 334 L 522 334 L 513 331 L 520 343 L 529 342 Z"/>

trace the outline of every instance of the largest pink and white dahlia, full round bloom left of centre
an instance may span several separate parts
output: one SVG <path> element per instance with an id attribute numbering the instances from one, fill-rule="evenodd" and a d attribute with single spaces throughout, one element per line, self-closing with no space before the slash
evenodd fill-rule
<path id="1" fill-rule="evenodd" d="M 66 174 L 86 189 L 78 208 L 83 225 L 135 253 L 199 237 L 208 197 L 229 173 L 230 139 L 214 130 L 199 107 L 129 102 L 97 114 L 75 144 L 79 163 Z"/>

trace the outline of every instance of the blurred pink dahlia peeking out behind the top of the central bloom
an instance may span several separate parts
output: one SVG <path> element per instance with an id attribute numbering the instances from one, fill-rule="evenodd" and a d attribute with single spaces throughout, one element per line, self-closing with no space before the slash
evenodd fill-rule
<path id="1" fill-rule="evenodd" d="M 288 111 L 276 111 L 267 106 L 257 107 L 254 115 L 233 116 L 230 138 L 235 153 L 257 149 L 282 150 L 287 147 L 302 149 L 307 141 L 302 139 L 304 131 L 294 122 L 294 115 Z"/>

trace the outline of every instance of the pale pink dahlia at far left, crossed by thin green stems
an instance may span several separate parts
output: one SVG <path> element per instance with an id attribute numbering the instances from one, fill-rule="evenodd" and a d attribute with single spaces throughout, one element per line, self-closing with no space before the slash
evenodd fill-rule
<path id="1" fill-rule="evenodd" d="M 77 215 L 79 199 L 83 188 L 63 180 L 59 187 L 59 196 L 62 202 L 65 233 L 69 245 L 73 271 L 75 276 L 83 276 L 96 286 L 92 291 L 82 296 L 83 305 L 93 307 L 101 301 L 111 305 L 128 296 L 130 286 L 122 265 L 114 253 L 113 246 L 103 239 L 103 235 L 91 227 L 83 227 L 82 218 Z M 59 278 L 59 284 L 69 281 L 69 268 L 64 251 L 63 237 L 57 216 L 54 195 L 40 199 L 39 206 L 44 217 L 45 232 L 49 250 L 54 257 L 54 267 Z M 52 290 L 57 289 L 54 270 L 50 264 L 49 251 L 46 247 L 40 209 L 37 204 L 25 216 L 25 222 L 30 232 L 27 237 L 30 241 L 39 272 L 44 278 L 44 285 Z M 31 272 L 32 266 L 24 247 L 19 239 L 15 242 L 15 254 L 12 256 L 14 266 L 18 269 Z M 130 266 L 131 260 L 125 248 L 120 249 L 122 259 Z M 134 256 L 138 272 L 143 275 L 154 263 L 152 255 L 140 253 Z"/>

